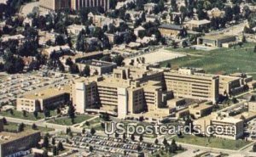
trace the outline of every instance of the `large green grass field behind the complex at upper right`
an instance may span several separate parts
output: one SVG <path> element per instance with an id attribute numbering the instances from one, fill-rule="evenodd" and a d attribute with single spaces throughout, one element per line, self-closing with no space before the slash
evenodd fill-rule
<path id="1" fill-rule="evenodd" d="M 212 51 L 193 50 L 189 48 L 167 48 L 175 52 L 187 53 L 188 56 L 168 60 L 161 63 L 166 66 L 171 63 L 173 68 L 196 67 L 203 68 L 207 73 L 230 74 L 234 72 L 256 72 L 256 53 L 253 53 L 253 43 L 244 43 L 240 48 L 218 48 Z M 252 74 L 252 76 L 256 76 Z"/>

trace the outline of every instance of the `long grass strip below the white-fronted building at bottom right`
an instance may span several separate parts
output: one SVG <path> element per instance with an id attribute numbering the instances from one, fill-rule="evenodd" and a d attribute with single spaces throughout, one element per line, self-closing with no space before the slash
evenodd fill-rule
<path id="1" fill-rule="evenodd" d="M 189 143 L 217 149 L 237 150 L 251 143 L 242 140 L 230 140 L 218 137 L 195 137 L 193 135 L 184 135 L 183 137 L 173 137 L 178 143 Z"/>

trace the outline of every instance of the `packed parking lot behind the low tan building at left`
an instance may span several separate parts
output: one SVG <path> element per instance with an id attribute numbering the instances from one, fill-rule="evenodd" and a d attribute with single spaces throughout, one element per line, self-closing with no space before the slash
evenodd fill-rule
<path id="1" fill-rule="evenodd" d="M 51 72 L 43 76 L 43 71 L 30 74 L 15 74 L 0 80 L 0 104 L 9 104 L 24 94 L 36 93 L 47 87 L 67 84 L 74 76 Z"/>

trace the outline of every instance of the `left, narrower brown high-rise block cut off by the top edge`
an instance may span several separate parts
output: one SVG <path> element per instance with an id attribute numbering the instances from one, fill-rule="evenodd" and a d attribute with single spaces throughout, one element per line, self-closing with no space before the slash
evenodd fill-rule
<path id="1" fill-rule="evenodd" d="M 70 8 L 70 0 L 39 0 L 39 8 L 43 11 L 57 11 Z"/>

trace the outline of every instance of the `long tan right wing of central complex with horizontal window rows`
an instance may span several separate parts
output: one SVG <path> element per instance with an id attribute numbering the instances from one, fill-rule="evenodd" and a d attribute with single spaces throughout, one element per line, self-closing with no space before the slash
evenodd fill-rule
<path id="1" fill-rule="evenodd" d="M 209 100 L 218 99 L 218 76 L 195 73 L 194 69 L 164 72 L 166 89 L 176 97 Z"/>

